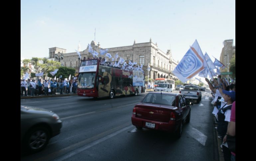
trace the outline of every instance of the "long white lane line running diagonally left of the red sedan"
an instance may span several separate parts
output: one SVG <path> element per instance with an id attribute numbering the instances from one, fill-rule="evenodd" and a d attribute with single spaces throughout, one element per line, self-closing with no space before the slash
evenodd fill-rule
<path id="1" fill-rule="evenodd" d="M 78 154 L 78 153 L 80 153 L 80 152 L 82 152 L 82 151 L 84 151 L 84 150 L 86 150 L 86 149 L 89 149 L 89 148 L 92 147 L 92 146 L 95 146 L 95 145 L 97 145 L 97 144 L 99 144 L 99 143 L 101 143 L 101 142 L 103 142 L 103 141 L 105 141 L 105 140 L 107 140 L 107 139 L 109 139 L 109 138 L 111 138 L 111 137 L 113 137 L 113 136 L 115 136 L 115 135 L 117 135 L 117 134 L 119 134 L 119 133 L 121 133 L 121 132 L 123 132 L 123 131 L 129 129 L 129 128 L 131 128 L 132 126 L 133 126 L 133 125 L 124 127 L 123 129 L 120 129 L 120 130 L 118 130 L 118 131 L 116 131 L 116 132 L 113 132 L 113 133 L 111 133 L 111 134 L 109 134 L 109 135 L 107 135 L 107 136 L 105 136 L 105 137 L 102 137 L 102 138 L 100 138 L 100 139 L 98 139 L 98 140 L 95 140 L 95 141 L 93 141 L 93 142 L 91 142 L 91 143 L 89 143 L 89 144 L 87 144 L 87 145 L 85 145 L 85 146 L 82 146 L 82 147 L 80 147 L 80 148 L 77 148 L 77 149 L 75 149 L 75 150 L 73 150 L 73 151 L 71 151 L 71 152 L 69 152 L 69 153 L 67 153 L 67 154 L 64 154 L 64 155 L 61 156 L 60 158 L 57 158 L 57 159 L 54 159 L 54 160 L 57 160 L 57 161 L 60 160 L 60 161 L 62 161 L 62 160 L 65 160 L 65 159 L 67 159 L 67 158 L 70 158 L 71 156 L 74 156 L 74 155 L 76 155 L 76 154 Z"/>

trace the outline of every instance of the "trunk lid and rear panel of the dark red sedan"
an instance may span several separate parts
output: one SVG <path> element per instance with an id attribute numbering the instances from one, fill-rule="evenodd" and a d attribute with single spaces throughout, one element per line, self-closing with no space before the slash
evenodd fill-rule
<path id="1" fill-rule="evenodd" d="M 136 105 L 136 117 L 152 121 L 169 122 L 171 112 L 176 107 L 160 104 Z"/>

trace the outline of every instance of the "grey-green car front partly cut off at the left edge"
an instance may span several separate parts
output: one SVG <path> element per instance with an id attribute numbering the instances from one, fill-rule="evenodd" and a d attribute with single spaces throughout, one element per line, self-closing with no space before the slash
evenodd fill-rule
<path id="1" fill-rule="evenodd" d="M 21 147 L 29 152 L 43 150 L 51 137 L 61 132 L 62 121 L 52 111 L 21 106 Z"/>

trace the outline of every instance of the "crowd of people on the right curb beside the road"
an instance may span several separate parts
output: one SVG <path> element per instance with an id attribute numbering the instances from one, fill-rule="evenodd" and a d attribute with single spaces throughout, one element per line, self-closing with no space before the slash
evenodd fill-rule
<path id="1" fill-rule="evenodd" d="M 218 138 L 221 139 L 221 148 L 225 161 L 235 161 L 235 148 L 229 141 L 230 137 L 235 137 L 235 83 L 229 84 L 221 79 L 210 82 L 207 78 L 209 88 L 213 92 L 213 114 L 217 123 Z"/>

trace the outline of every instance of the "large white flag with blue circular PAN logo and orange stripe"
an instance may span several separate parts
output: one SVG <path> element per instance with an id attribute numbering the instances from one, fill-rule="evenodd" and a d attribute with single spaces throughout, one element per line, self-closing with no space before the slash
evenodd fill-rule
<path id="1" fill-rule="evenodd" d="M 173 70 L 175 76 L 177 76 L 182 82 L 186 82 L 192 79 L 196 74 L 205 70 L 207 66 L 205 58 L 202 54 L 197 40 L 192 44 L 182 60 Z"/>

